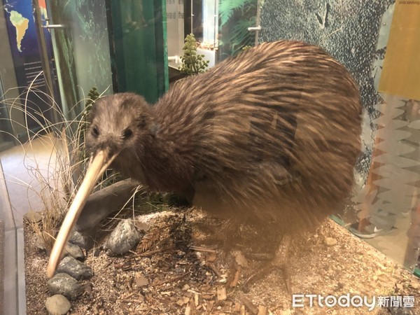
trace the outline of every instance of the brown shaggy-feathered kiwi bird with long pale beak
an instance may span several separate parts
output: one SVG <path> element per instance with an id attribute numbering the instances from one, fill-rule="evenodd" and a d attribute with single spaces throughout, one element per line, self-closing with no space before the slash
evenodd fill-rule
<path id="1" fill-rule="evenodd" d="M 350 73 L 298 41 L 262 43 L 176 83 L 154 106 L 133 93 L 90 113 L 92 159 L 50 256 L 55 272 L 84 200 L 111 166 L 215 216 L 301 232 L 344 203 L 360 151 Z"/>

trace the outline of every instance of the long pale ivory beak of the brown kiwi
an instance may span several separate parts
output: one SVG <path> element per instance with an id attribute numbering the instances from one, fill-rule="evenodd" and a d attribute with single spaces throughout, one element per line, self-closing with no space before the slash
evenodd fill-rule
<path id="1" fill-rule="evenodd" d="M 85 174 L 85 179 L 83 179 L 83 182 L 76 193 L 76 197 L 74 197 L 73 203 L 71 204 L 69 211 L 67 211 L 66 218 L 64 218 L 62 227 L 59 229 L 57 239 L 55 239 L 54 246 L 52 247 L 47 267 L 48 278 L 54 276 L 64 246 L 69 238 L 70 231 L 76 223 L 83 206 L 85 206 L 87 196 L 92 192 L 100 176 L 102 176 L 115 158 L 116 155 L 109 157 L 108 151 L 99 151 L 90 161 L 90 165 Z"/>

